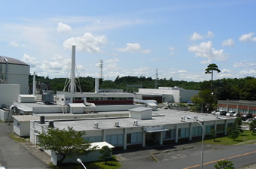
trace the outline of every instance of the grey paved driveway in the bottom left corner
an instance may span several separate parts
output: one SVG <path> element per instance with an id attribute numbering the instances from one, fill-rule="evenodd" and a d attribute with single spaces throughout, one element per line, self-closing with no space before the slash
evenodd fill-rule
<path id="1" fill-rule="evenodd" d="M 47 164 L 9 137 L 12 131 L 13 125 L 0 122 L 0 165 L 8 169 L 48 168 Z"/>

